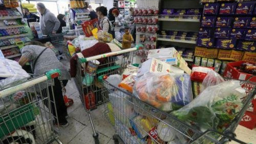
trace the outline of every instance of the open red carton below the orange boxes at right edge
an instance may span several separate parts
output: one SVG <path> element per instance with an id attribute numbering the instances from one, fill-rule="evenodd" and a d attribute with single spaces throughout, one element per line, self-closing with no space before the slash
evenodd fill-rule
<path id="1" fill-rule="evenodd" d="M 240 72 L 235 68 L 235 67 L 241 66 L 242 63 L 246 63 L 246 61 L 236 61 L 236 62 L 227 63 L 227 67 L 224 71 L 223 76 L 226 78 L 256 82 L 256 76 L 249 73 Z"/>

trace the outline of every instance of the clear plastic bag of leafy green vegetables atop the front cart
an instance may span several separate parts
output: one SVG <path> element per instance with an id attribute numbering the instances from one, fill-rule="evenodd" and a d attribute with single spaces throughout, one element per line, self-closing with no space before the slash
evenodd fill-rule
<path id="1" fill-rule="evenodd" d="M 171 114 L 189 125 L 198 126 L 201 131 L 222 131 L 241 110 L 244 96 L 240 81 L 225 81 L 207 87 L 191 103 Z"/>

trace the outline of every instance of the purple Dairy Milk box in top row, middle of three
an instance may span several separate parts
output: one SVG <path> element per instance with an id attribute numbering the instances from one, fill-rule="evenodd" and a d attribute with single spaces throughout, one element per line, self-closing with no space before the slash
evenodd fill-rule
<path id="1" fill-rule="evenodd" d="M 220 4 L 219 15 L 233 15 L 235 14 L 237 3 Z"/>

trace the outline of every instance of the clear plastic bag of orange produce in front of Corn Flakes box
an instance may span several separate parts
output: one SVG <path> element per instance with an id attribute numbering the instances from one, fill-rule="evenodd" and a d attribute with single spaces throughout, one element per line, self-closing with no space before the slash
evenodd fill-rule
<path id="1" fill-rule="evenodd" d="M 164 111 L 177 110 L 193 100 L 188 74 L 145 73 L 134 84 L 140 100 Z"/>

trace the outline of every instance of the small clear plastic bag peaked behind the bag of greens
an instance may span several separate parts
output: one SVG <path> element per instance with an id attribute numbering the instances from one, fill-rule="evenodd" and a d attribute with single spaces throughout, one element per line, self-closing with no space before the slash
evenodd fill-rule
<path id="1" fill-rule="evenodd" d="M 208 86 L 215 86 L 222 82 L 224 82 L 222 76 L 220 76 L 219 73 L 211 70 L 208 72 L 207 76 L 203 80 L 201 91 L 205 90 L 205 88 L 207 88 Z"/>

